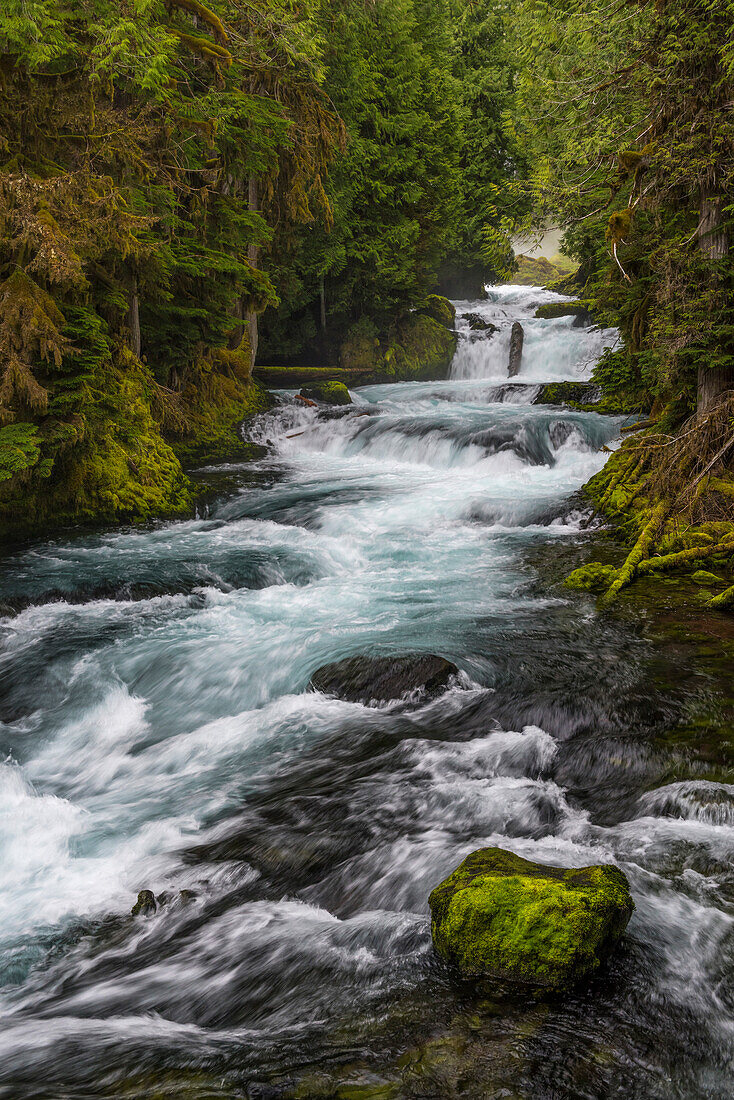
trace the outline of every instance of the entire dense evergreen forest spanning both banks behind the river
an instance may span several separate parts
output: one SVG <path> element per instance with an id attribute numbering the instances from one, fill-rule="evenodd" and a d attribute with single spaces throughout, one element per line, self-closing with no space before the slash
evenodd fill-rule
<path id="1" fill-rule="evenodd" d="M 8 0 L 3 531 L 186 510 L 182 463 L 266 403 L 255 359 L 384 348 L 549 226 L 622 330 L 595 377 L 649 415 L 637 476 L 698 487 L 734 439 L 733 28 L 734 0 Z"/>

